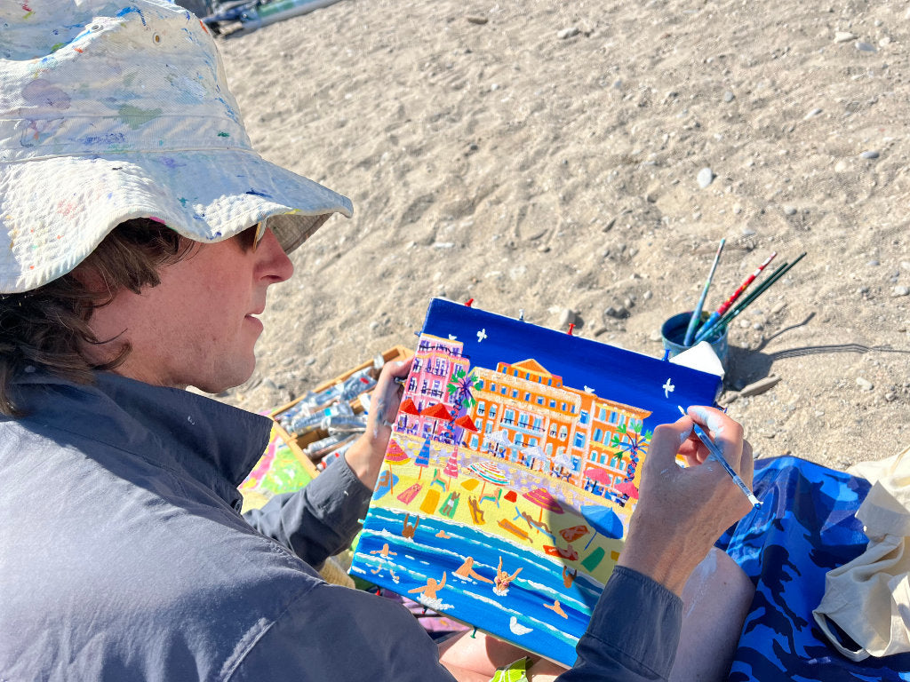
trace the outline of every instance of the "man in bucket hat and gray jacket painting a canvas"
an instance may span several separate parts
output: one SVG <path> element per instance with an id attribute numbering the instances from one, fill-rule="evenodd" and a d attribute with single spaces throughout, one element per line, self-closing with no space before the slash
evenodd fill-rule
<path id="1" fill-rule="evenodd" d="M 441 649 L 410 613 L 323 582 L 379 475 L 399 401 L 248 519 L 268 419 L 187 386 L 245 381 L 287 252 L 349 201 L 249 147 L 214 44 L 161 0 L 30 0 L 0 14 L 0 679 L 489 679 L 518 657 Z M 749 505 L 751 448 L 721 413 L 655 430 L 642 498 L 581 679 L 666 677 L 679 595 Z M 474 648 L 471 648 L 474 647 Z M 559 674 L 543 661 L 531 678 Z"/>

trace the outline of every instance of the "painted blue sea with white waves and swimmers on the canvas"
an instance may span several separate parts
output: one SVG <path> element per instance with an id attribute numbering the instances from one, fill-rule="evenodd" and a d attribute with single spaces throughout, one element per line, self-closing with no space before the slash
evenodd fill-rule
<path id="1" fill-rule="evenodd" d="M 602 583 L 580 572 L 571 587 L 565 587 L 565 564 L 561 561 L 542 553 L 538 556 L 507 539 L 462 524 L 420 518 L 411 539 L 400 534 L 406 512 L 375 508 L 370 516 L 370 523 L 360 536 L 353 575 L 383 584 L 469 625 L 482 624 L 481 629 L 490 634 L 535 653 L 566 665 L 574 663 L 575 645 L 587 627 Z M 411 514 L 409 525 L 415 520 Z M 450 537 L 441 538 L 440 533 Z M 502 568 L 510 575 L 518 568 L 521 572 L 506 594 L 498 595 L 490 583 L 455 575 L 468 557 L 473 557 L 473 569 L 480 576 L 494 577 L 500 558 Z M 426 586 L 430 578 L 441 581 L 443 572 L 446 583 L 437 600 L 422 599 L 420 593 L 409 594 L 411 589 Z M 564 618 L 547 607 L 557 600 Z M 560 627 L 552 625 L 554 618 L 561 622 Z"/>

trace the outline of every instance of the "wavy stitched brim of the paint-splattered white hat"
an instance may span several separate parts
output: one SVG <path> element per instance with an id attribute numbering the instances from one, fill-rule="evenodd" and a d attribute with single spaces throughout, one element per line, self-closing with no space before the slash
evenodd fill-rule
<path id="1" fill-rule="evenodd" d="M 0 171 L 0 293 L 66 275 L 126 220 L 156 218 L 217 242 L 269 218 L 292 251 L 348 197 L 243 149 L 57 156 Z"/>

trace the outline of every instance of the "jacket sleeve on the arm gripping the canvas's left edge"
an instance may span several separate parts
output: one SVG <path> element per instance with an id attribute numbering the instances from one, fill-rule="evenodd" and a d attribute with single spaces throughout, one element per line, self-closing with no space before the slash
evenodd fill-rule
<path id="1" fill-rule="evenodd" d="M 311 567 L 349 547 L 372 494 L 343 457 L 297 492 L 244 514 L 250 526 L 288 547 Z"/>

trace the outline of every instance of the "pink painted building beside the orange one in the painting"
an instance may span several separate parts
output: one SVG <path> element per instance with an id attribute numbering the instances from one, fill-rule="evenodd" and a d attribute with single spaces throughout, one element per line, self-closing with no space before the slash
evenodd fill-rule
<path id="1" fill-rule="evenodd" d="M 470 369 L 470 358 L 462 355 L 463 348 L 460 341 L 429 334 L 420 336 L 414 365 L 401 397 L 400 430 L 416 436 L 438 435 L 443 431 L 445 425 L 441 422 L 447 421 L 443 412 L 451 415 L 455 409 L 449 392 L 452 376 L 459 368 L 465 373 Z M 410 406 L 407 405 L 409 400 Z M 423 414 L 428 407 L 432 409 Z"/>

